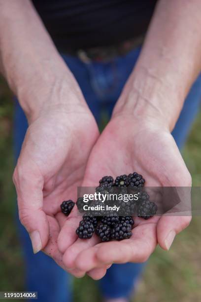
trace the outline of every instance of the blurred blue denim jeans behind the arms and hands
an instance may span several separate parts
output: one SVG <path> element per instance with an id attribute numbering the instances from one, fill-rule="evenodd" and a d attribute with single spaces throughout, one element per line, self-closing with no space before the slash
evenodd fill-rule
<path id="1" fill-rule="evenodd" d="M 100 121 L 101 110 L 109 116 L 131 74 L 140 48 L 126 56 L 117 57 L 109 63 L 85 64 L 78 58 L 63 55 L 67 66 L 82 89 L 86 102 L 96 120 Z M 163 100 L 161 100 L 163 102 Z M 201 76 L 195 81 L 185 101 L 182 112 L 172 132 L 181 149 L 185 143 L 192 122 L 198 113 L 201 101 Z M 15 104 L 14 148 L 16 158 L 27 129 L 26 117 L 18 102 Z M 25 264 L 27 290 L 38 292 L 38 302 L 68 302 L 71 300 L 70 277 L 54 261 L 42 252 L 33 255 L 31 241 L 24 227 L 19 223 Z M 100 291 L 105 298 L 128 297 L 138 280 L 144 264 L 113 264 L 99 281 Z"/>

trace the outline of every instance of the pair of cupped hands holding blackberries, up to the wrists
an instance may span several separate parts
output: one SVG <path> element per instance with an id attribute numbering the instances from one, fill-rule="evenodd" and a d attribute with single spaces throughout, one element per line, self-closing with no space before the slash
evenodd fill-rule
<path id="1" fill-rule="evenodd" d="M 76 277 L 87 272 L 100 279 L 112 263 L 146 261 L 158 243 L 169 249 L 191 218 L 136 218 L 130 239 L 100 243 L 96 235 L 88 240 L 77 238 L 77 208 L 65 217 L 61 202 L 76 200 L 78 186 L 96 187 L 103 175 L 137 171 L 148 187 L 188 187 L 191 177 L 162 119 L 116 110 L 98 139 L 92 114 L 73 97 L 65 106 L 50 102 L 30 118 L 14 183 L 20 220 L 30 233 L 34 252 L 43 249 Z"/>

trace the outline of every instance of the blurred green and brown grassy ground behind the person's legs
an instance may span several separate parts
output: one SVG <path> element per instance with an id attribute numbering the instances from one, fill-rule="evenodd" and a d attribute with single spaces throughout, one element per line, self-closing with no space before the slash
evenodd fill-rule
<path id="1" fill-rule="evenodd" d="M 23 290 L 23 258 L 17 238 L 15 190 L 12 184 L 12 114 L 9 90 L 0 79 L 0 291 Z M 193 185 L 201 186 L 201 113 L 183 151 Z M 169 252 L 157 248 L 133 302 L 201 301 L 201 219 L 194 217 Z M 88 277 L 74 282 L 75 302 L 99 302 L 96 283 Z"/>

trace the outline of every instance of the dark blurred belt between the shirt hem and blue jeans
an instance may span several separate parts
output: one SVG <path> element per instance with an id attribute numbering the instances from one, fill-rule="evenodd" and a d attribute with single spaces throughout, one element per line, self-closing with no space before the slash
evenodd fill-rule
<path id="1" fill-rule="evenodd" d="M 111 61 L 115 57 L 126 55 L 135 47 L 140 46 L 143 43 L 143 40 L 144 36 L 128 39 L 116 45 L 77 50 L 67 49 L 66 53 L 78 57 L 84 63 L 90 63 L 91 61 Z"/>

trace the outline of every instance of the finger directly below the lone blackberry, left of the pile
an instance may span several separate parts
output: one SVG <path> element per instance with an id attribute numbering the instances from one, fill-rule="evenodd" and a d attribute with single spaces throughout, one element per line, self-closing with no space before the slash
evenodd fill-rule
<path id="1" fill-rule="evenodd" d="M 76 206 L 74 206 L 68 217 L 65 217 L 62 213 L 58 213 L 56 218 L 61 227 L 61 231 L 58 236 L 58 248 L 60 252 L 64 254 L 67 248 L 77 240 L 77 234 L 75 231 L 82 218 L 79 215 Z"/>

